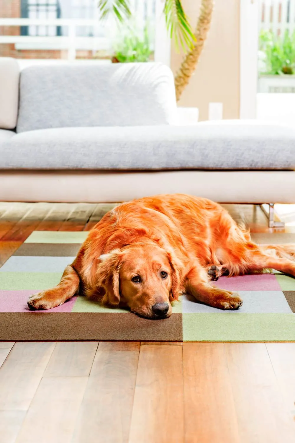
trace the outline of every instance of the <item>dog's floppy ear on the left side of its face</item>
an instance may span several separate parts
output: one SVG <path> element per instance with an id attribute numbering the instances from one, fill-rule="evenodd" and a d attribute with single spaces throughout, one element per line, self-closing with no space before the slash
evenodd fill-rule
<path id="1" fill-rule="evenodd" d="M 116 306 L 120 301 L 119 269 L 121 260 L 120 249 L 114 249 L 110 253 L 99 257 L 97 267 L 97 284 L 105 290 L 102 303 Z"/>

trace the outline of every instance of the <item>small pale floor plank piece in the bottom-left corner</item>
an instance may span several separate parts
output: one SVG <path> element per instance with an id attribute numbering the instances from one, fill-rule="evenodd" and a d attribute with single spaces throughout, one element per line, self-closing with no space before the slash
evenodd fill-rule
<path id="1" fill-rule="evenodd" d="M 0 443 L 15 443 L 26 411 L 0 411 Z"/>

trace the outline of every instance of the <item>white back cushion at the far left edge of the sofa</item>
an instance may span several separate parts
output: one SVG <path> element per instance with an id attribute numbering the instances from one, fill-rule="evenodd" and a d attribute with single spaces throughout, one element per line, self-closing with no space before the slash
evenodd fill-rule
<path id="1" fill-rule="evenodd" d="M 19 107 L 19 64 L 0 57 L 0 128 L 14 129 Z"/>

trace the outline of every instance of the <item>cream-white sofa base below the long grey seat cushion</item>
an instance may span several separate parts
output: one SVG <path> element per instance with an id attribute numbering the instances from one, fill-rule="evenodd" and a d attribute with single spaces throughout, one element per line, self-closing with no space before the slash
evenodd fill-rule
<path id="1" fill-rule="evenodd" d="M 295 203 L 295 171 L 0 171 L 7 202 L 123 202 L 177 192 L 221 203 Z"/>

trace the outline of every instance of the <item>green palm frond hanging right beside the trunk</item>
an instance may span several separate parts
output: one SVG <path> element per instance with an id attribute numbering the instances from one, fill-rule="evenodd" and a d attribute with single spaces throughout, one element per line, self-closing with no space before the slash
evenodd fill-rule
<path id="1" fill-rule="evenodd" d="M 195 42 L 195 35 L 181 1 L 165 0 L 164 14 L 169 35 L 171 38 L 174 36 L 176 48 L 179 48 L 180 44 L 184 51 L 191 50 Z"/>

